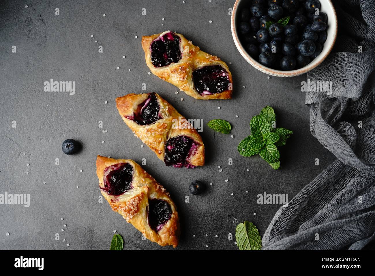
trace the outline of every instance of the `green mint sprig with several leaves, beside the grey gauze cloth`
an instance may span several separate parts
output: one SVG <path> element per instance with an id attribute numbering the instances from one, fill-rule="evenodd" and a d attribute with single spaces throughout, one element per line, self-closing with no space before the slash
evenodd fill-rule
<path id="1" fill-rule="evenodd" d="M 286 128 L 274 128 L 276 115 L 272 107 L 266 106 L 260 115 L 250 121 L 250 136 L 243 139 L 237 147 L 242 156 L 259 154 L 273 169 L 280 167 L 280 152 L 277 146 L 283 146 L 293 131 Z"/>

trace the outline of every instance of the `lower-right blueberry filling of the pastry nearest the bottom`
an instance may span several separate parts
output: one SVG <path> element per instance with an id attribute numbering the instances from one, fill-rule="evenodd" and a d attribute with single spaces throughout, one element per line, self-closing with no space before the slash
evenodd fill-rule
<path id="1" fill-rule="evenodd" d="M 171 207 L 163 199 L 148 200 L 148 225 L 159 232 L 172 216 Z"/>

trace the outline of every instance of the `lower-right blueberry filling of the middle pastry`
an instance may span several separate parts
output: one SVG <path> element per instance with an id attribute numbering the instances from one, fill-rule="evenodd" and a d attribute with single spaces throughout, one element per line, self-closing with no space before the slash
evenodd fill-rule
<path id="1" fill-rule="evenodd" d="M 187 136 L 173 137 L 165 143 L 164 163 L 166 166 L 173 165 L 178 168 L 194 167 L 187 159 L 195 154 L 197 148 L 194 140 Z"/>

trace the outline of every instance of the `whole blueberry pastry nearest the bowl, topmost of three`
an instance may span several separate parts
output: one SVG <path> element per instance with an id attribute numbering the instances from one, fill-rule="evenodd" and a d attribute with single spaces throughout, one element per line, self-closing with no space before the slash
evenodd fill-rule
<path id="1" fill-rule="evenodd" d="M 232 74 L 226 63 L 183 35 L 166 31 L 142 36 L 142 48 L 151 72 L 187 95 L 198 100 L 231 98 Z"/>

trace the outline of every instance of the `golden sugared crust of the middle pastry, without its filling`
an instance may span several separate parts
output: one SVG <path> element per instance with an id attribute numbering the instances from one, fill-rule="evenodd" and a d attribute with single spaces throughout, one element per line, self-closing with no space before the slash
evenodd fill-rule
<path id="1" fill-rule="evenodd" d="M 133 120 L 126 118 L 127 116 L 133 116 L 134 111 L 137 110 L 138 104 L 144 102 L 148 94 L 128 94 L 116 98 L 118 113 L 120 113 L 121 118 L 133 133 L 152 149 L 160 160 L 164 161 L 164 143 L 168 139 L 180 135 L 192 138 L 198 145 L 198 148 L 195 154 L 187 161 L 193 166 L 203 166 L 205 155 L 202 137 L 171 104 L 158 94 L 155 93 L 155 95 L 159 101 L 162 119 L 157 120 L 153 124 L 138 125 Z M 186 122 L 186 124 L 182 124 L 181 127 L 176 128 L 174 127 L 176 126 L 175 122 L 178 122 L 179 117 L 180 121 Z"/>

